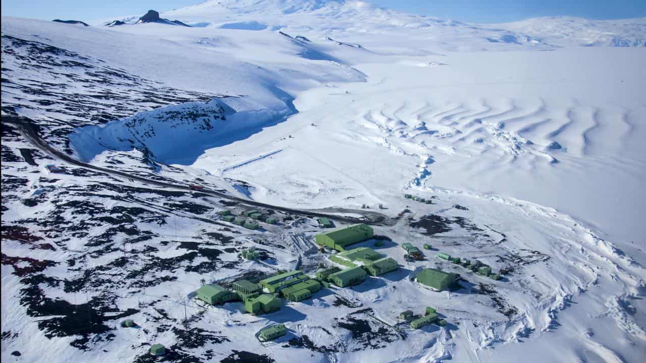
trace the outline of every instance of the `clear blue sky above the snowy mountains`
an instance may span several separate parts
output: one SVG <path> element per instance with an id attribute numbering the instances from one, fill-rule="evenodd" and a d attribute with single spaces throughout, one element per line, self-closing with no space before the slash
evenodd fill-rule
<path id="1" fill-rule="evenodd" d="M 193 5 L 201 0 L 2 0 L 3 16 L 92 21 L 143 15 Z M 370 1 L 370 0 L 368 0 Z M 379 6 L 457 21 L 495 23 L 537 16 L 620 19 L 646 16 L 646 0 L 372 0 Z"/>

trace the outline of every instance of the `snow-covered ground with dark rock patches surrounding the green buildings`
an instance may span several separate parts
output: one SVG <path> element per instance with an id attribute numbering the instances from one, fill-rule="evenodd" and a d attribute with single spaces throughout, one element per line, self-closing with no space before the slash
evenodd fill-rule
<path id="1" fill-rule="evenodd" d="M 297 260 L 313 271 L 326 260 L 316 223 L 251 232 L 205 221 L 218 198 L 64 163 L 72 172 L 45 175 L 59 161 L 3 122 L 3 361 L 147 362 L 154 342 L 185 362 L 641 361 L 644 19 L 472 25 L 333 0 L 205 1 L 161 17 L 196 27 L 3 17 L 3 115 L 138 176 L 302 209 L 409 209 L 375 226 L 402 268 L 267 316 L 202 309 L 186 298 L 201 278 Z M 512 272 L 493 281 L 436 251 L 404 262 L 403 242 Z M 238 258 L 250 246 L 266 264 Z M 466 282 L 422 289 L 408 276 L 424 266 Z M 425 306 L 450 325 L 386 325 Z M 91 329 L 73 323 L 96 311 Z M 289 335 L 253 340 L 271 322 Z"/>

